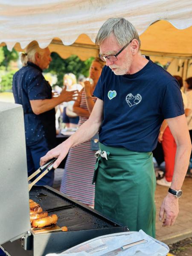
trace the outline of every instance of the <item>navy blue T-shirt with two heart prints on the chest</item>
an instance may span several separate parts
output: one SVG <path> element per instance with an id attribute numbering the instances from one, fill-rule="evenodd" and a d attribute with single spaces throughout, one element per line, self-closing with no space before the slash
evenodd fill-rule
<path id="1" fill-rule="evenodd" d="M 177 80 L 151 60 L 131 75 L 105 66 L 93 94 L 104 102 L 99 142 L 111 147 L 150 152 L 163 119 L 184 114 Z"/>

